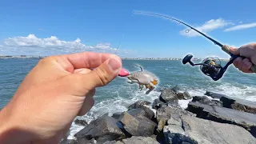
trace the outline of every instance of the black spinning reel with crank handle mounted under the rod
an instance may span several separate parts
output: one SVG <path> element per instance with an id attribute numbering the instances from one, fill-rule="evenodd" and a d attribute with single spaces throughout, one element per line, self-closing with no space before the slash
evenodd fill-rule
<path id="1" fill-rule="evenodd" d="M 205 58 L 202 63 L 194 64 L 191 62 L 191 58 L 193 55 L 187 54 L 185 58 L 183 58 L 182 63 L 185 65 L 187 62 L 190 63 L 191 66 L 200 66 L 200 70 L 203 74 L 206 74 L 214 81 L 218 81 L 219 78 L 222 78 L 226 69 L 230 64 L 234 61 L 235 58 L 232 58 L 230 62 L 227 62 L 226 66 L 222 67 L 221 61 L 216 57 Z"/>

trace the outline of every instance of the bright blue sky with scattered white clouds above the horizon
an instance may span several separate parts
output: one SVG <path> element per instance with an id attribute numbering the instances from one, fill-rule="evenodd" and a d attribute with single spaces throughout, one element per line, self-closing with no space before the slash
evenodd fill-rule
<path id="1" fill-rule="evenodd" d="M 254 0 L 243 1 L 13 1 L 0 5 L 0 54 L 52 55 L 81 51 L 121 57 L 229 58 L 186 26 L 133 10 L 165 14 L 197 27 L 223 44 L 255 42 Z"/>

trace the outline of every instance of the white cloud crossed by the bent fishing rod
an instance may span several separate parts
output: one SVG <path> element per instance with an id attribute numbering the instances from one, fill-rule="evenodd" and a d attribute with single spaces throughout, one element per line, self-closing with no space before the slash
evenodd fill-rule
<path id="1" fill-rule="evenodd" d="M 202 26 L 196 26 L 196 27 L 193 26 L 193 27 L 201 31 L 202 33 L 206 34 L 207 32 L 210 32 L 212 30 L 216 30 L 231 24 L 232 24 L 231 22 L 226 22 L 224 19 L 218 18 L 218 19 L 211 19 L 210 21 L 205 22 Z M 188 27 L 187 29 L 180 31 L 180 34 L 187 37 L 201 36 L 201 34 L 198 34 L 198 32 L 194 30 L 190 30 L 188 33 L 186 33 L 186 30 L 190 30 L 190 28 Z"/>

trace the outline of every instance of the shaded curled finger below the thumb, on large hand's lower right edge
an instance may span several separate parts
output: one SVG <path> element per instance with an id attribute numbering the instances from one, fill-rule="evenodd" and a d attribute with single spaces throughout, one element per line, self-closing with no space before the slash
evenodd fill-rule
<path id="1" fill-rule="evenodd" d="M 82 108 L 78 112 L 78 116 L 85 115 L 93 106 L 94 106 L 94 96 L 95 94 L 95 89 L 90 90 L 88 94 L 86 94 L 86 98 L 82 104 Z"/>

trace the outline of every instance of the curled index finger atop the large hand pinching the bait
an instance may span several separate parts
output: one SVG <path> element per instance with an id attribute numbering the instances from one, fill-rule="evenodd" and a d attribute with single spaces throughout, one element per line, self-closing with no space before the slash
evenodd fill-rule
<path id="1" fill-rule="evenodd" d="M 58 63 L 64 70 L 72 72 L 74 69 L 95 68 L 100 66 L 107 59 L 118 56 L 114 54 L 83 52 L 55 56 Z M 121 61 L 121 58 L 119 58 Z"/>

